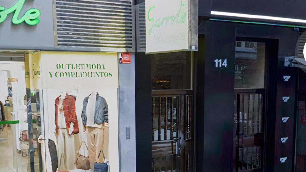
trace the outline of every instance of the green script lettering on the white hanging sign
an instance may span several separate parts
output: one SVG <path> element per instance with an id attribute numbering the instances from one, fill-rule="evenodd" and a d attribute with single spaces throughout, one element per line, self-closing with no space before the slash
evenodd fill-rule
<path id="1" fill-rule="evenodd" d="M 159 18 L 157 20 L 155 20 L 155 18 L 151 18 L 150 17 L 150 13 L 153 9 L 155 9 L 156 6 L 152 6 L 149 10 L 148 10 L 148 20 L 151 23 L 152 27 L 149 30 L 149 35 L 151 35 L 152 31 L 154 28 L 160 28 L 163 25 L 168 25 L 168 24 L 179 24 L 179 23 L 185 23 L 186 22 L 186 8 L 185 7 L 185 3 L 183 2 L 184 0 L 181 0 L 181 6 L 178 9 L 178 12 L 176 15 L 173 16 L 169 16 L 169 17 L 164 17 L 164 18 Z"/>

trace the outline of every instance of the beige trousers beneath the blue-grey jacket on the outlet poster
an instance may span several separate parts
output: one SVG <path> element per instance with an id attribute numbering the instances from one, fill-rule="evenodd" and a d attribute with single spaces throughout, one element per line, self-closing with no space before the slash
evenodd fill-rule
<path id="1" fill-rule="evenodd" d="M 96 128 L 96 127 L 86 127 L 86 136 L 87 136 L 87 142 L 88 142 L 88 156 L 89 156 L 89 163 L 91 171 L 94 171 L 94 164 L 95 162 L 103 163 L 103 155 L 101 153 L 99 159 L 99 153 L 101 150 L 104 151 L 105 158 L 108 155 L 108 151 L 104 150 L 104 143 L 108 143 L 108 140 L 105 140 L 105 128 L 103 126 L 102 129 Z M 108 128 L 108 127 L 107 127 Z M 105 140 L 105 141 L 104 141 Z M 108 146 L 108 145 L 106 145 Z"/>

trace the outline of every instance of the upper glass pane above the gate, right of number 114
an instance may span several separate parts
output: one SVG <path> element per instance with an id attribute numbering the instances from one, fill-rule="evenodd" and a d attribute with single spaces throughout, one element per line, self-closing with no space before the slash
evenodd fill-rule
<path id="1" fill-rule="evenodd" d="M 265 43 L 236 42 L 235 88 L 265 88 L 265 58 Z"/>

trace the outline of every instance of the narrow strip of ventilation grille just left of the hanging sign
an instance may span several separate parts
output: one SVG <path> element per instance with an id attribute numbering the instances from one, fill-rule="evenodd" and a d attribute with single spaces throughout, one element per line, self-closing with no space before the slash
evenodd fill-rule
<path id="1" fill-rule="evenodd" d="M 136 5 L 137 52 L 146 51 L 146 4 Z"/>

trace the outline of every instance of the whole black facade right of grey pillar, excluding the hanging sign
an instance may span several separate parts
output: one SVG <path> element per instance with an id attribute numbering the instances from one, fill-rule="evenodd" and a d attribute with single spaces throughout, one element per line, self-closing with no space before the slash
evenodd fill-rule
<path id="1" fill-rule="evenodd" d="M 191 58 L 180 58 L 181 52 L 136 53 L 136 135 L 141 136 L 136 137 L 137 171 L 304 171 L 303 71 L 285 63 L 304 58 L 304 39 L 299 39 L 304 4 L 287 9 L 274 6 L 279 2 L 226 3 L 199 1 L 197 51 L 184 52 Z M 144 8 L 143 1 L 136 2 L 137 52 L 146 52 Z M 289 16 L 277 13 L 288 10 Z M 175 76 L 186 66 L 190 80 L 181 75 L 180 84 L 191 84 L 176 88 Z M 185 149 L 177 146 L 171 132 L 169 139 L 164 132 L 171 119 L 166 116 L 176 112 L 168 107 L 173 106 L 169 99 L 180 94 L 192 97 L 192 120 L 186 110 L 181 121 Z M 192 149 L 186 149 L 186 126 L 194 126 Z M 159 155 L 156 144 L 171 139 L 176 149 Z M 184 150 L 177 153 L 178 148 Z M 193 159 L 185 162 L 183 154 L 190 152 Z M 165 157 L 170 154 L 176 159 Z"/>

